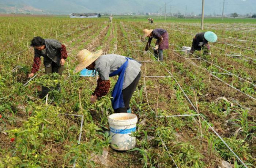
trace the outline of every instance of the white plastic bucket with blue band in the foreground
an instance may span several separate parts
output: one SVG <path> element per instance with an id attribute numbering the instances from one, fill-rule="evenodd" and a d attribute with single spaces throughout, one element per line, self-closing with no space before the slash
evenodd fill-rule
<path id="1" fill-rule="evenodd" d="M 135 114 L 121 112 L 108 117 L 111 147 L 115 150 L 130 150 L 135 148 L 136 138 L 131 136 L 136 131 L 138 118 Z M 115 146 L 116 145 L 116 146 Z"/>

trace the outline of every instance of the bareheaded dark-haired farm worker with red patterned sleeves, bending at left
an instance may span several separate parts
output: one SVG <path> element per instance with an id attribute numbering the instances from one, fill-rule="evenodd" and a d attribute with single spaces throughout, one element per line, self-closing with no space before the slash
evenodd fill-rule
<path id="1" fill-rule="evenodd" d="M 41 56 L 44 57 L 45 73 L 59 73 L 62 75 L 65 59 L 68 57 L 65 45 L 54 39 L 43 39 L 34 37 L 30 46 L 34 47 L 34 63 L 29 78 L 39 70 L 41 64 Z M 42 97 L 49 92 L 49 88 L 42 87 Z"/>

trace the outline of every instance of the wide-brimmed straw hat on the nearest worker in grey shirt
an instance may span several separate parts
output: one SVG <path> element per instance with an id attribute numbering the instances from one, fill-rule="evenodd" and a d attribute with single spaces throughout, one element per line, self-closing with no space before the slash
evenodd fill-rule
<path id="1" fill-rule="evenodd" d="M 78 66 L 75 68 L 75 72 L 79 72 L 80 70 L 83 70 L 87 66 L 91 65 L 99 56 L 101 56 L 102 50 L 98 50 L 95 53 L 91 53 L 90 51 L 84 49 L 79 51 L 76 58 L 78 59 Z"/>

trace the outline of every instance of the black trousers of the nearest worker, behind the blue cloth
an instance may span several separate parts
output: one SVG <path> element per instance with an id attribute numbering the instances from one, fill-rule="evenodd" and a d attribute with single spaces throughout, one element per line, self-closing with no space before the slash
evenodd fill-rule
<path id="1" fill-rule="evenodd" d="M 125 89 L 122 90 L 123 93 L 123 100 L 124 100 L 124 108 L 117 108 L 114 110 L 114 112 L 127 112 L 127 110 L 130 108 L 129 103 L 132 98 L 132 94 L 135 91 L 138 83 L 140 80 L 140 73 L 138 76 L 132 81 L 132 83 Z"/>

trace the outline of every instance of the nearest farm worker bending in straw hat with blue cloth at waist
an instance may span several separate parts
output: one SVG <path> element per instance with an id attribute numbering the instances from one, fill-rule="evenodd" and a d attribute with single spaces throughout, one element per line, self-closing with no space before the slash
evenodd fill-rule
<path id="1" fill-rule="evenodd" d="M 75 68 L 75 72 L 86 68 L 95 69 L 99 74 L 97 87 L 94 90 L 90 100 L 91 103 L 96 102 L 98 98 L 105 96 L 109 92 L 109 77 L 118 75 L 118 80 L 112 92 L 112 107 L 114 112 L 129 112 L 129 102 L 133 92 L 140 80 L 141 64 L 132 58 L 120 56 L 117 54 L 102 55 L 102 50 L 95 53 L 84 49 L 77 54 L 79 65 Z"/>

